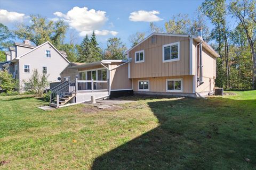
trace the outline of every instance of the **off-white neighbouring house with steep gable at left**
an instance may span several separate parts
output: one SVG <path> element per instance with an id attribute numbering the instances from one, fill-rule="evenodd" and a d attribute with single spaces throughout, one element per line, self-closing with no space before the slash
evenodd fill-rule
<path id="1" fill-rule="evenodd" d="M 59 51 L 49 41 L 39 46 L 31 45 L 28 40 L 14 45 L 6 52 L 7 62 L 3 67 L 19 80 L 21 90 L 25 86 L 23 81 L 27 81 L 35 69 L 41 75 L 49 75 L 49 82 L 59 82 L 60 72 L 70 63 L 66 53 Z"/>

